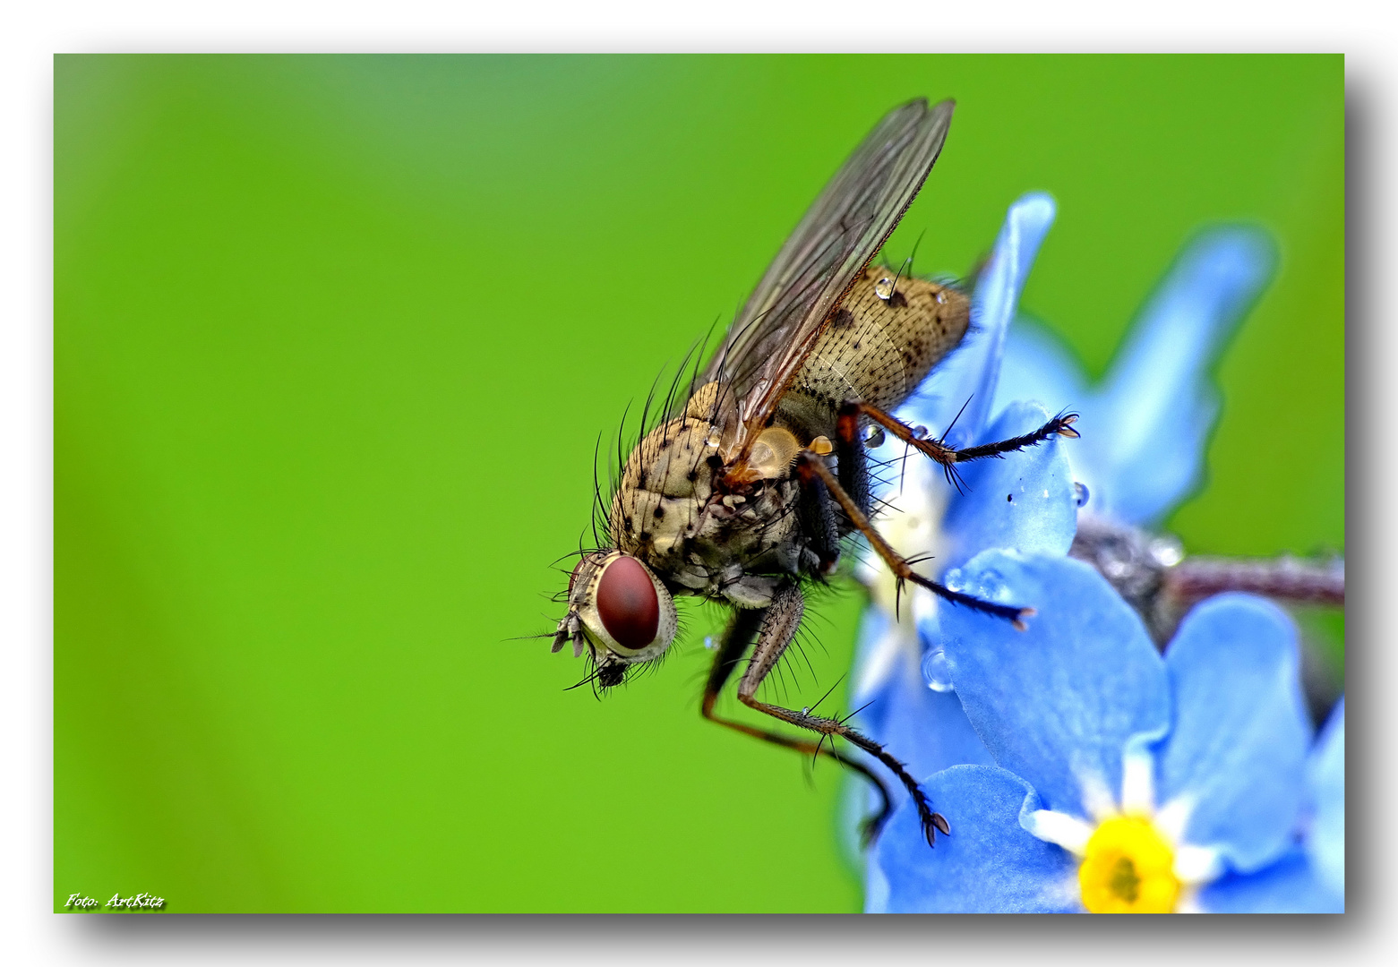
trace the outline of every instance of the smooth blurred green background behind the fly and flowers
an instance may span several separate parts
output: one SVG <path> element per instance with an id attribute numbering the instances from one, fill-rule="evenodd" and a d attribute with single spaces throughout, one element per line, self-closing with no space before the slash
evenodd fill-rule
<path id="1" fill-rule="evenodd" d="M 605 701 L 510 639 L 597 433 L 921 94 L 956 120 L 889 252 L 965 274 L 1053 193 L 1023 306 L 1095 373 L 1199 225 L 1275 233 L 1170 525 L 1342 548 L 1339 56 L 60 56 L 56 906 L 858 910 L 840 773 L 699 718 L 712 615 Z"/>

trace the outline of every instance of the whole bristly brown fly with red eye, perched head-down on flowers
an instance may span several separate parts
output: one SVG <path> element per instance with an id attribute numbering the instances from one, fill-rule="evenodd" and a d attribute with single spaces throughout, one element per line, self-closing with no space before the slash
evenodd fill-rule
<path id="1" fill-rule="evenodd" d="M 952 482 L 958 464 L 1000 457 L 1054 435 L 1078 436 L 1075 414 L 1011 440 L 953 449 L 892 416 L 966 335 L 965 292 L 889 275 L 874 256 L 931 172 L 953 102 L 911 101 L 854 150 L 777 253 L 691 393 L 644 433 L 622 465 L 607 513 L 607 546 L 583 552 L 568 584 L 554 651 L 586 654 L 601 689 L 658 658 L 677 632 L 675 595 L 727 604 L 714 643 L 705 718 L 797 752 L 835 759 L 882 795 L 865 820 L 872 840 L 892 810 L 884 781 L 835 748 L 843 738 L 878 759 L 917 806 L 928 845 L 946 819 L 903 763 L 846 720 L 758 699 L 758 686 L 795 637 L 802 588 L 823 583 L 846 538 L 863 534 L 902 588 L 918 584 L 952 605 L 1023 629 L 1035 612 L 952 591 L 917 574 L 872 527 L 864 449 L 896 436 L 935 460 Z M 809 731 L 795 738 L 714 714 L 744 655 L 738 699 Z M 828 741 L 829 739 L 829 741 Z"/>

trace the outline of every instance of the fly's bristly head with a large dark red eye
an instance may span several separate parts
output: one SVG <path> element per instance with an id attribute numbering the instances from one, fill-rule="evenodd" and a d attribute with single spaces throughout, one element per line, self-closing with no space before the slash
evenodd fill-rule
<path id="1" fill-rule="evenodd" d="M 639 559 L 621 551 L 583 555 L 568 579 L 568 613 L 554 651 L 573 643 L 589 651 L 604 689 L 621 685 L 629 665 L 651 661 L 675 640 L 675 599 Z"/>

